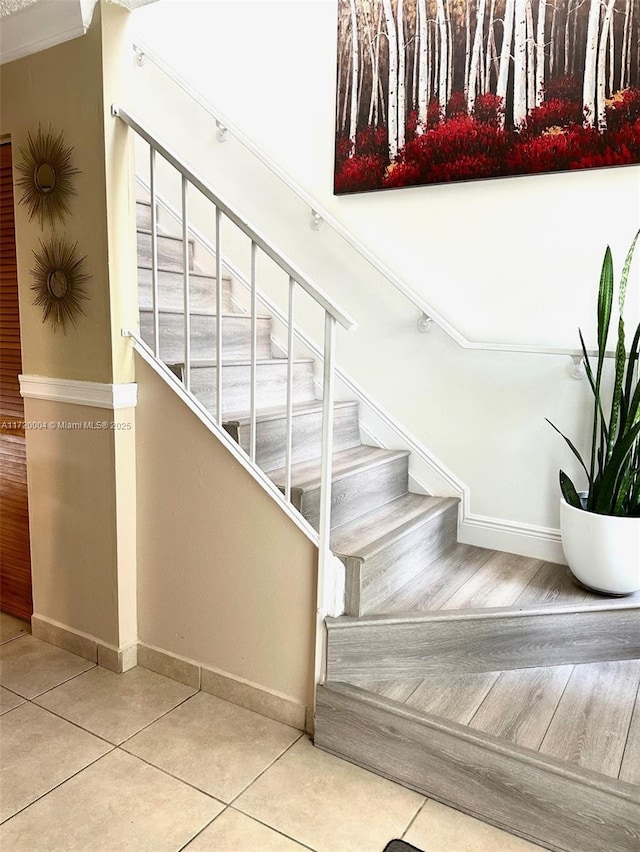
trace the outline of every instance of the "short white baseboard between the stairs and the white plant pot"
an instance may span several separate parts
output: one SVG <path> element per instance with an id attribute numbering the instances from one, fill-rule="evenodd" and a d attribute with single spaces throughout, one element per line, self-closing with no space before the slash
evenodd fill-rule
<path id="1" fill-rule="evenodd" d="M 560 530 L 552 527 L 521 524 L 485 515 L 467 515 L 458 527 L 458 541 L 566 564 Z"/>

